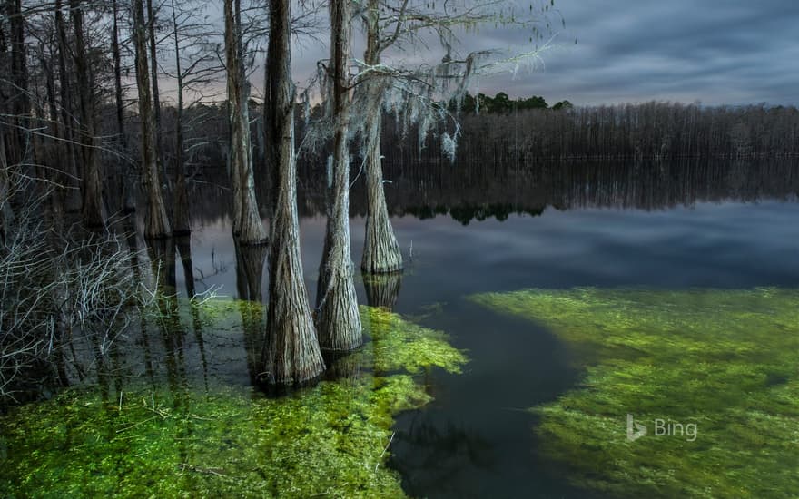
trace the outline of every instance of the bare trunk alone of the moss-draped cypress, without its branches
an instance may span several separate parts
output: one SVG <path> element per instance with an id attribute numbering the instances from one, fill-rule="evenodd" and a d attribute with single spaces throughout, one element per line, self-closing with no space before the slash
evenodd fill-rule
<path id="1" fill-rule="evenodd" d="M 364 61 L 380 64 L 379 0 L 369 0 L 366 13 L 367 43 Z M 391 227 L 386 194 L 383 191 L 383 165 L 380 160 L 382 85 L 373 77 L 365 84 L 368 96 L 366 137 L 366 235 L 360 269 L 367 273 L 388 273 L 402 270 L 402 251 Z"/>

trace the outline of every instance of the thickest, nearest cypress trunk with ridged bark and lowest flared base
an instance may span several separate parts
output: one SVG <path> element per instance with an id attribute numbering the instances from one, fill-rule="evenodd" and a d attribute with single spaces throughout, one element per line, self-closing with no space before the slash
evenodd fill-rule
<path id="1" fill-rule="evenodd" d="M 324 370 L 302 277 L 291 83 L 291 0 L 270 0 L 266 109 L 273 175 L 267 346 L 262 381 L 297 384 Z"/>

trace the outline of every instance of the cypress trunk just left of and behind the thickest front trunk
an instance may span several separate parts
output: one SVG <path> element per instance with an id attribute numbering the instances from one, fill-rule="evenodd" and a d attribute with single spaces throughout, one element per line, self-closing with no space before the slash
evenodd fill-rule
<path id="1" fill-rule="evenodd" d="M 263 244 L 266 230 L 258 213 L 250 146 L 249 85 L 242 61 L 240 0 L 225 0 L 225 54 L 231 124 L 231 186 L 233 195 L 233 235 L 241 244 Z"/>

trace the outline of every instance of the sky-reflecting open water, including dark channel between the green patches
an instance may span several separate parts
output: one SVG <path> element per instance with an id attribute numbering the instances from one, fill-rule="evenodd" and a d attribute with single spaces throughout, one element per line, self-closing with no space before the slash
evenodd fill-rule
<path id="1" fill-rule="evenodd" d="M 406 260 L 397 311 L 447 331 L 471 362 L 462 376 L 424 375 L 436 400 L 399 417 L 393 465 L 411 494 L 438 496 L 585 497 L 564 470 L 538 461 L 533 416 L 521 409 L 552 400 L 579 373 L 548 332 L 501 317 L 462 299 L 481 291 L 575 286 L 656 288 L 799 285 L 799 203 L 694 202 L 669 210 L 547 208 L 538 217 L 471 220 L 446 215 L 393 219 Z M 192 233 L 197 289 L 236 297 L 236 260 L 229 221 L 203 217 Z M 321 260 L 324 217 L 301 219 L 301 249 L 311 303 Z M 351 220 L 352 258 L 360 303 L 364 220 Z M 413 259 L 409 259 L 412 245 Z M 213 260 L 212 260 L 213 255 Z M 200 270 L 208 276 L 201 278 Z M 214 272 L 218 272 L 214 274 Z M 183 290 L 182 267 L 177 266 Z M 267 270 L 263 273 L 264 294 Z M 220 341 L 224 343 L 224 341 Z M 244 350 L 226 350 L 244 372 Z M 239 376 L 242 379 L 244 376 Z"/>

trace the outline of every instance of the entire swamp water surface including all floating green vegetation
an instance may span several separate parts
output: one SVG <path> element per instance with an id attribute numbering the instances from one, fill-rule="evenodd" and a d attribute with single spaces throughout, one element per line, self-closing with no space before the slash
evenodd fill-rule
<path id="1" fill-rule="evenodd" d="M 799 494 L 799 166 L 386 178 L 406 271 L 358 277 L 369 341 L 319 385 L 251 387 L 263 257 L 205 192 L 191 262 L 151 253 L 181 295 L 73 389 L 3 417 L 0 495 Z M 301 191 L 311 296 L 318 182 Z M 358 184 L 352 200 L 358 262 Z M 187 283 L 220 297 L 192 304 Z"/>

